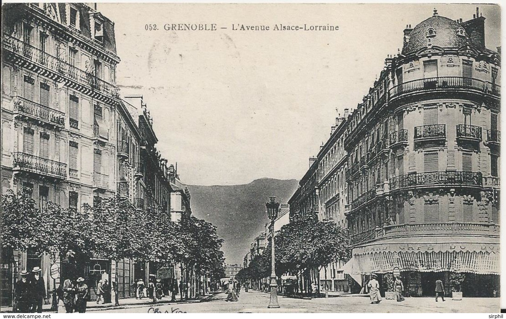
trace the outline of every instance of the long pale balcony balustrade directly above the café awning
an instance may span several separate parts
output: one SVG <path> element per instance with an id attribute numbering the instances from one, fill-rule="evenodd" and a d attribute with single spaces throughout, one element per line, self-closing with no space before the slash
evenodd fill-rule
<path id="1" fill-rule="evenodd" d="M 417 236 L 487 236 L 499 237 L 500 227 L 496 224 L 485 223 L 427 223 L 402 224 L 377 227 L 351 237 L 354 245 L 368 241 Z"/>

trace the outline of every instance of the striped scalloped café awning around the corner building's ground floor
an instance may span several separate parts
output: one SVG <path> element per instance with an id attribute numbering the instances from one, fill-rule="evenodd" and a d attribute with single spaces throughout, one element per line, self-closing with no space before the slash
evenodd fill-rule
<path id="1" fill-rule="evenodd" d="M 461 247 L 457 249 L 455 246 L 449 246 L 448 249 L 422 247 L 416 250 L 354 249 L 353 258 L 355 258 L 353 272 L 364 275 L 372 272 L 379 274 L 392 272 L 394 267 L 399 267 L 401 271 L 500 274 L 499 249 L 495 245 L 467 245 L 467 249 Z"/>

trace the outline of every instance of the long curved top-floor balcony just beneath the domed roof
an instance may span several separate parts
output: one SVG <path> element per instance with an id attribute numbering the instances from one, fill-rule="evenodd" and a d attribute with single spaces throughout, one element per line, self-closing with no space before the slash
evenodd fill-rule
<path id="1" fill-rule="evenodd" d="M 389 91 L 390 101 L 402 96 L 422 92 L 465 91 L 500 97 L 500 85 L 471 77 L 441 76 L 401 83 Z"/>

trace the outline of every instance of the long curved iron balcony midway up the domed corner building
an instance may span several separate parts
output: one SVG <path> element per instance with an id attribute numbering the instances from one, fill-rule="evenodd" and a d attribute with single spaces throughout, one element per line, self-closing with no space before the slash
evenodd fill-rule
<path id="1" fill-rule="evenodd" d="M 411 173 L 395 176 L 390 180 L 390 190 L 414 187 L 481 187 L 481 172 L 442 171 L 427 173 Z"/>

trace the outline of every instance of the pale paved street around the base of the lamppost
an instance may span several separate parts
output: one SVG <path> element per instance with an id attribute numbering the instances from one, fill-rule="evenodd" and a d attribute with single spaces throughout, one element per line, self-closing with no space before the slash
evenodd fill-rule
<path id="1" fill-rule="evenodd" d="M 341 296 L 312 300 L 279 296 L 280 309 L 267 309 L 269 294 L 258 291 L 241 292 L 238 302 L 226 302 L 225 293 L 216 294 L 199 303 L 137 306 L 125 309 L 99 310 L 101 312 L 498 312 L 499 298 L 465 298 L 457 301 L 447 298 L 435 302 L 433 298 L 406 298 L 403 302 L 383 300 L 370 304 L 368 297 Z"/>

